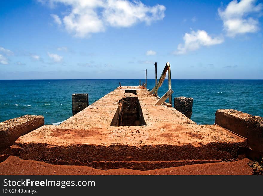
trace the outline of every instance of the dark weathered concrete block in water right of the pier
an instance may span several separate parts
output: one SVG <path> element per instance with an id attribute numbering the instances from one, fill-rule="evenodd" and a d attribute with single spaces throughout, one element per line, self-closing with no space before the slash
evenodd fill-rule
<path id="1" fill-rule="evenodd" d="M 193 98 L 188 97 L 175 97 L 174 108 L 190 119 L 192 116 L 193 100 Z"/>

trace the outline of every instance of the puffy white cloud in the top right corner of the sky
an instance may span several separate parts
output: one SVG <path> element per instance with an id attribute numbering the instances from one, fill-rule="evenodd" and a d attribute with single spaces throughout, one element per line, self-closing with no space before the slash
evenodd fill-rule
<path id="1" fill-rule="evenodd" d="M 218 8 L 218 14 L 223 20 L 224 30 L 230 37 L 237 34 L 254 33 L 259 30 L 259 15 L 249 17 L 250 14 L 260 13 L 262 4 L 256 5 L 256 0 L 231 1 L 225 9 Z"/>

